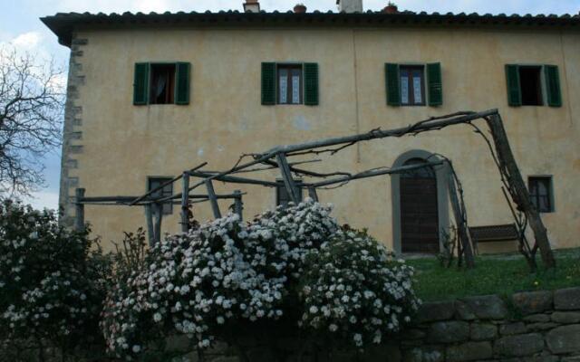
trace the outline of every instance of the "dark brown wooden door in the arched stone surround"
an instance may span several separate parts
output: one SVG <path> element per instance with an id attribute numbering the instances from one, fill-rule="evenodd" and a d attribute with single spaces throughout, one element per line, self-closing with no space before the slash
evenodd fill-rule
<path id="1" fill-rule="evenodd" d="M 424 162 L 413 158 L 405 165 Z M 437 178 L 432 167 L 401 175 L 401 252 L 440 252 Z"/>

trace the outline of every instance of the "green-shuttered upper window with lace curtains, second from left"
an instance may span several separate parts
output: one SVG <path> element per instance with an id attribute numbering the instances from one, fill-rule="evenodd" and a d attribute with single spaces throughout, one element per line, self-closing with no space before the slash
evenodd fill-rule
<path id="1" fill-rule="evenodd" d="M 262 105 L 318 105 L 318 64 L 262 63 Z"/>

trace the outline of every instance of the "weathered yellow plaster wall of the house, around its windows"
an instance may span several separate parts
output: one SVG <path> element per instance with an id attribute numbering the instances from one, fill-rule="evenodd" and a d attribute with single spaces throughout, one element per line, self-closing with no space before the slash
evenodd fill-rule
<path id="1" fill-rule="evenodd" d="M 177 175 L 202 161 L 209 162 L 209 169 L 225 169 L 242 153 L 277 144 L 401 127 L 458 110 L 498 108 L 523 176 L 554 176 L 556 213 L 543 215 L 552 243 L 557 248 L 580 244 L 579 33 L 453 28 L 141 29 L 81 30 L 78 37 L 89 40 L 80 60 L 85 85 L 77 100 L 82 106 L 78 142 L 84 149 L 76 157 L 79 168 L 70 176 L 79 177 L 88 196 L 140 195 L 147 176 Z M 133 106 L 134 63 L 175 61 L 192 64 L 189 106 Z M 261 62 L 318 62 L 320 105 L 262 106 Z M 385 62 L 441 62 L 443 106 L 388 107 Z M 564 106 L 508 107 L 506 63 L 558 65 Z M 483 122 L 478 124 L 484 127 Z M 390 167 L 412 149 L 440 153 L 453 161 L 466 190 L 470 224 L 511 221 L 488 148 L 467 126 L 363 143 L 325 159 L 324 164 L 305 167 L 353 172 Z M 277 174 L 265 176 L 274 179 Z M 244 197 L 247 218 L 275 205 L 273 189 L 216 186 L 218 193 L 236 188 L 248 193 Z M 388 176 L 319 195 L 335 205 L 341 222 L 369 227 L 391 245 Z M 222 202 L 222 210 L 228 204 Z M 165 231 L 179 230 L 179 206 L 175 210 L 164 219 Z M 210 217 L 207 204 L 195 212 L 201 220 Z M 145 222 L 139 207 L 89 205 L 86 219 L 94 233 L 102 235 L 105 246 L 120 240 L 122 231 Z M 486 248 L 497 251 L 502 246 L 482 246 Z"/>

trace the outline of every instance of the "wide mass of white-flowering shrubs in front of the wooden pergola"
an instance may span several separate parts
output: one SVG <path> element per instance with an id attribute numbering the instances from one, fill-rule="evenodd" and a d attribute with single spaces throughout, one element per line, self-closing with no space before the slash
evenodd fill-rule
<path id="1" fill-rule="evenodd" d="M 109 350 L 134 360 L 175 334 L 208 348 L 240 323 L 283 317 L 295 328 L 349 334 L 359 347 L 369 334 L 380 342 L 417 309 L 412 270 L 370 237 L 343 233 L 330 213 L 306 199 L 250 223 L 228 214 L 167 237 L 110 292 L 102 314 Z"/>

